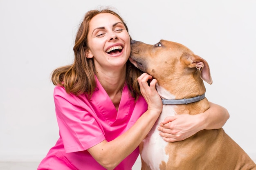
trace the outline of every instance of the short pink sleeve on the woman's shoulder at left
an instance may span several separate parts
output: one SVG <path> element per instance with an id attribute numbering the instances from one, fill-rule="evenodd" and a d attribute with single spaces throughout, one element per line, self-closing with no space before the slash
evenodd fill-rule
<path id="1" fill-rule="evenodd" d="M 102 127 L 86 97 L 54 88 L 56 117 L 66 153 L 87 150 L 105 139 Z"/>

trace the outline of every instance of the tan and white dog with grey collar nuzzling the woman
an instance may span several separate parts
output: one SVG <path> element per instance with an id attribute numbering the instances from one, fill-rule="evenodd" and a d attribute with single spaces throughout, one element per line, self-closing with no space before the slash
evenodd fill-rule
<path id="1" fill-rule="evenodd" d="M 150 45 L 131 41 L 130 62 L 157 79 L 163 110 L 141 142 L 141 170 L 256 170 L 256 164 L 223 130 L 201 130 L 176 142 L 160 137 L 160 120 L 195 115 L 209 108 L 204 82 L 212 84 L 209 65 L 186 46 L 167 40 Z"/>

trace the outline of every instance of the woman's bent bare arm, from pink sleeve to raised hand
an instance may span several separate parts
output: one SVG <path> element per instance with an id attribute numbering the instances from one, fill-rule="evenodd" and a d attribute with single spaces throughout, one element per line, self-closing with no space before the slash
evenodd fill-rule
<path id="1" fill-rule="evenodd" d="M 139 146 L 162 111 L 162 100 L 155 89 L 157 81 L 153 79 L 148 86 L 147 81 L 151 78 L 146 73 L 138 78 L 141 93 L 148 104 L 148 110 L 124 134 L 109 142 L 104 140 L 88 149 L 92 157 L 108 170 L 114 169 Z"/>

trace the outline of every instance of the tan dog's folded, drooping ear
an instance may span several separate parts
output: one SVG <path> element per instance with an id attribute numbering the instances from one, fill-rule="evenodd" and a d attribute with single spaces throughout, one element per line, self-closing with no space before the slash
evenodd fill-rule
<path id="1" fill-rule="evenodd" d="M 210 68 L 206 60 L 198 55 L 185 54 L 189 68 L 197 68 L 200 70 L 200 77 L 205 82 L 212 84 Z"/>

